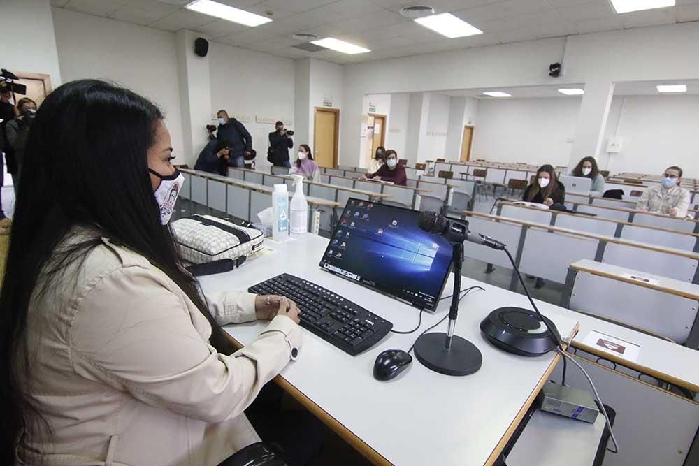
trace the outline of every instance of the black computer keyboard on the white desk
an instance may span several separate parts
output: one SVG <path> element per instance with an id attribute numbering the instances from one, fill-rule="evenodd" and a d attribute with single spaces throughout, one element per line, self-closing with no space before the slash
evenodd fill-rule
<path id="1" fill-rule="evenodd" d="M 352 356 L 373 347 L 393 328 L 393 323 L 373 312 L 288 273 L 250 286 L 250 293 L 291 298 L 298 305 L 303 328 Z"/>

